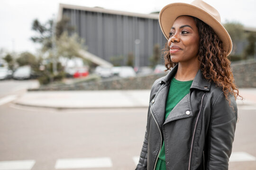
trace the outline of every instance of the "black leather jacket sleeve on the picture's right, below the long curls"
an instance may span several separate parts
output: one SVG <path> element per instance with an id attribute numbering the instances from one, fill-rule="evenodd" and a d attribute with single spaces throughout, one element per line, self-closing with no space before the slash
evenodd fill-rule
<path id="1" fill-rule="evenodd" d="M 211 108 L 207 170 L 228 170 L 236 123 L 237 104 L 230 94 L 230 102 L 220 93 Z"/>

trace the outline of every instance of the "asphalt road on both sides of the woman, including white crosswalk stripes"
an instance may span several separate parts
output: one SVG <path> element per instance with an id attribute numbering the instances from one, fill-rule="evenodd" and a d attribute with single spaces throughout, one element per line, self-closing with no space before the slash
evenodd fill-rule
<path id="1" fill-rule="evenodd" d="M 146 113 L 146 108 L 55 110 L 2 104 L 0 170 L 10 161 L 25 170 L 134 170 Z M 256 107 L 238 107 L 238 115 L 229 170 L 256 170 Z"/>

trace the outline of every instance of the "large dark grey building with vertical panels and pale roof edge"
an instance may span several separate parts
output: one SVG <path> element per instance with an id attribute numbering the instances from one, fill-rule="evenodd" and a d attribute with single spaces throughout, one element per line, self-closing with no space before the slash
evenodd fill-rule
<path id="1" fill-rule="evenodd" d="M 118 60 L 120 65 L 127 65 L 130 54 L 139 56 L 137 65 L 149 66 L 154 46 L 158 44 L 160 51 L 165 46 L 158 14 L 60 4 L 58 20 L 63 16 L 70 18 L 70 25 L 85 40 L 87 51 L 110 62 Z"/>

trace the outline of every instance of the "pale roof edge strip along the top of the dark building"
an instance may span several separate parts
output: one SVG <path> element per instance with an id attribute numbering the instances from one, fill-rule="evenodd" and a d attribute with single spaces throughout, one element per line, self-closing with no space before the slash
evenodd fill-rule
<path id="1" fill-rule="evenodd" d="M 99 12 L 99 13 L 105 13 L 105 14 L 123 15 L 123 16 L 130 16 L 130 17 L 150 18 L 150 19 L 158 19 L 158 16 L 159 16 L 159 14 L 139 14 L 139 13 L 133 13 L 133 12 L 104 9 L 104 8 L 100 8 L 100 7 L 90 8 L 90 7 L 82 7 L 82 6 L 77 6 L 77 5 L 59 4 L 59 12 L 58 12 L 58 18 L 57 18 L 58 21 L 61 20 L 61 18 L 62 18 L 64 8 L 82 10 L 82 11 Z"/>

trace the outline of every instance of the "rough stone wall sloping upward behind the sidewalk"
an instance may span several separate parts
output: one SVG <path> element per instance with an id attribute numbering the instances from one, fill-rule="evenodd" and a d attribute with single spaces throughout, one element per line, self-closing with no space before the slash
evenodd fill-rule
<path id="1" fill-rule="evenodd" d="M 239 88 L 256 87 L 256 60 L 240 61 L 231 64 L 235 83 Z M 111 78 L 97 80 L 93 82 L 79 82 L 71 85 L 41 86 L 35 90 L 134 90 L 150 89 L 157 78 L 165 74 L 155 74 L 149 76 L 137 76 L 130 78 Z"/>

